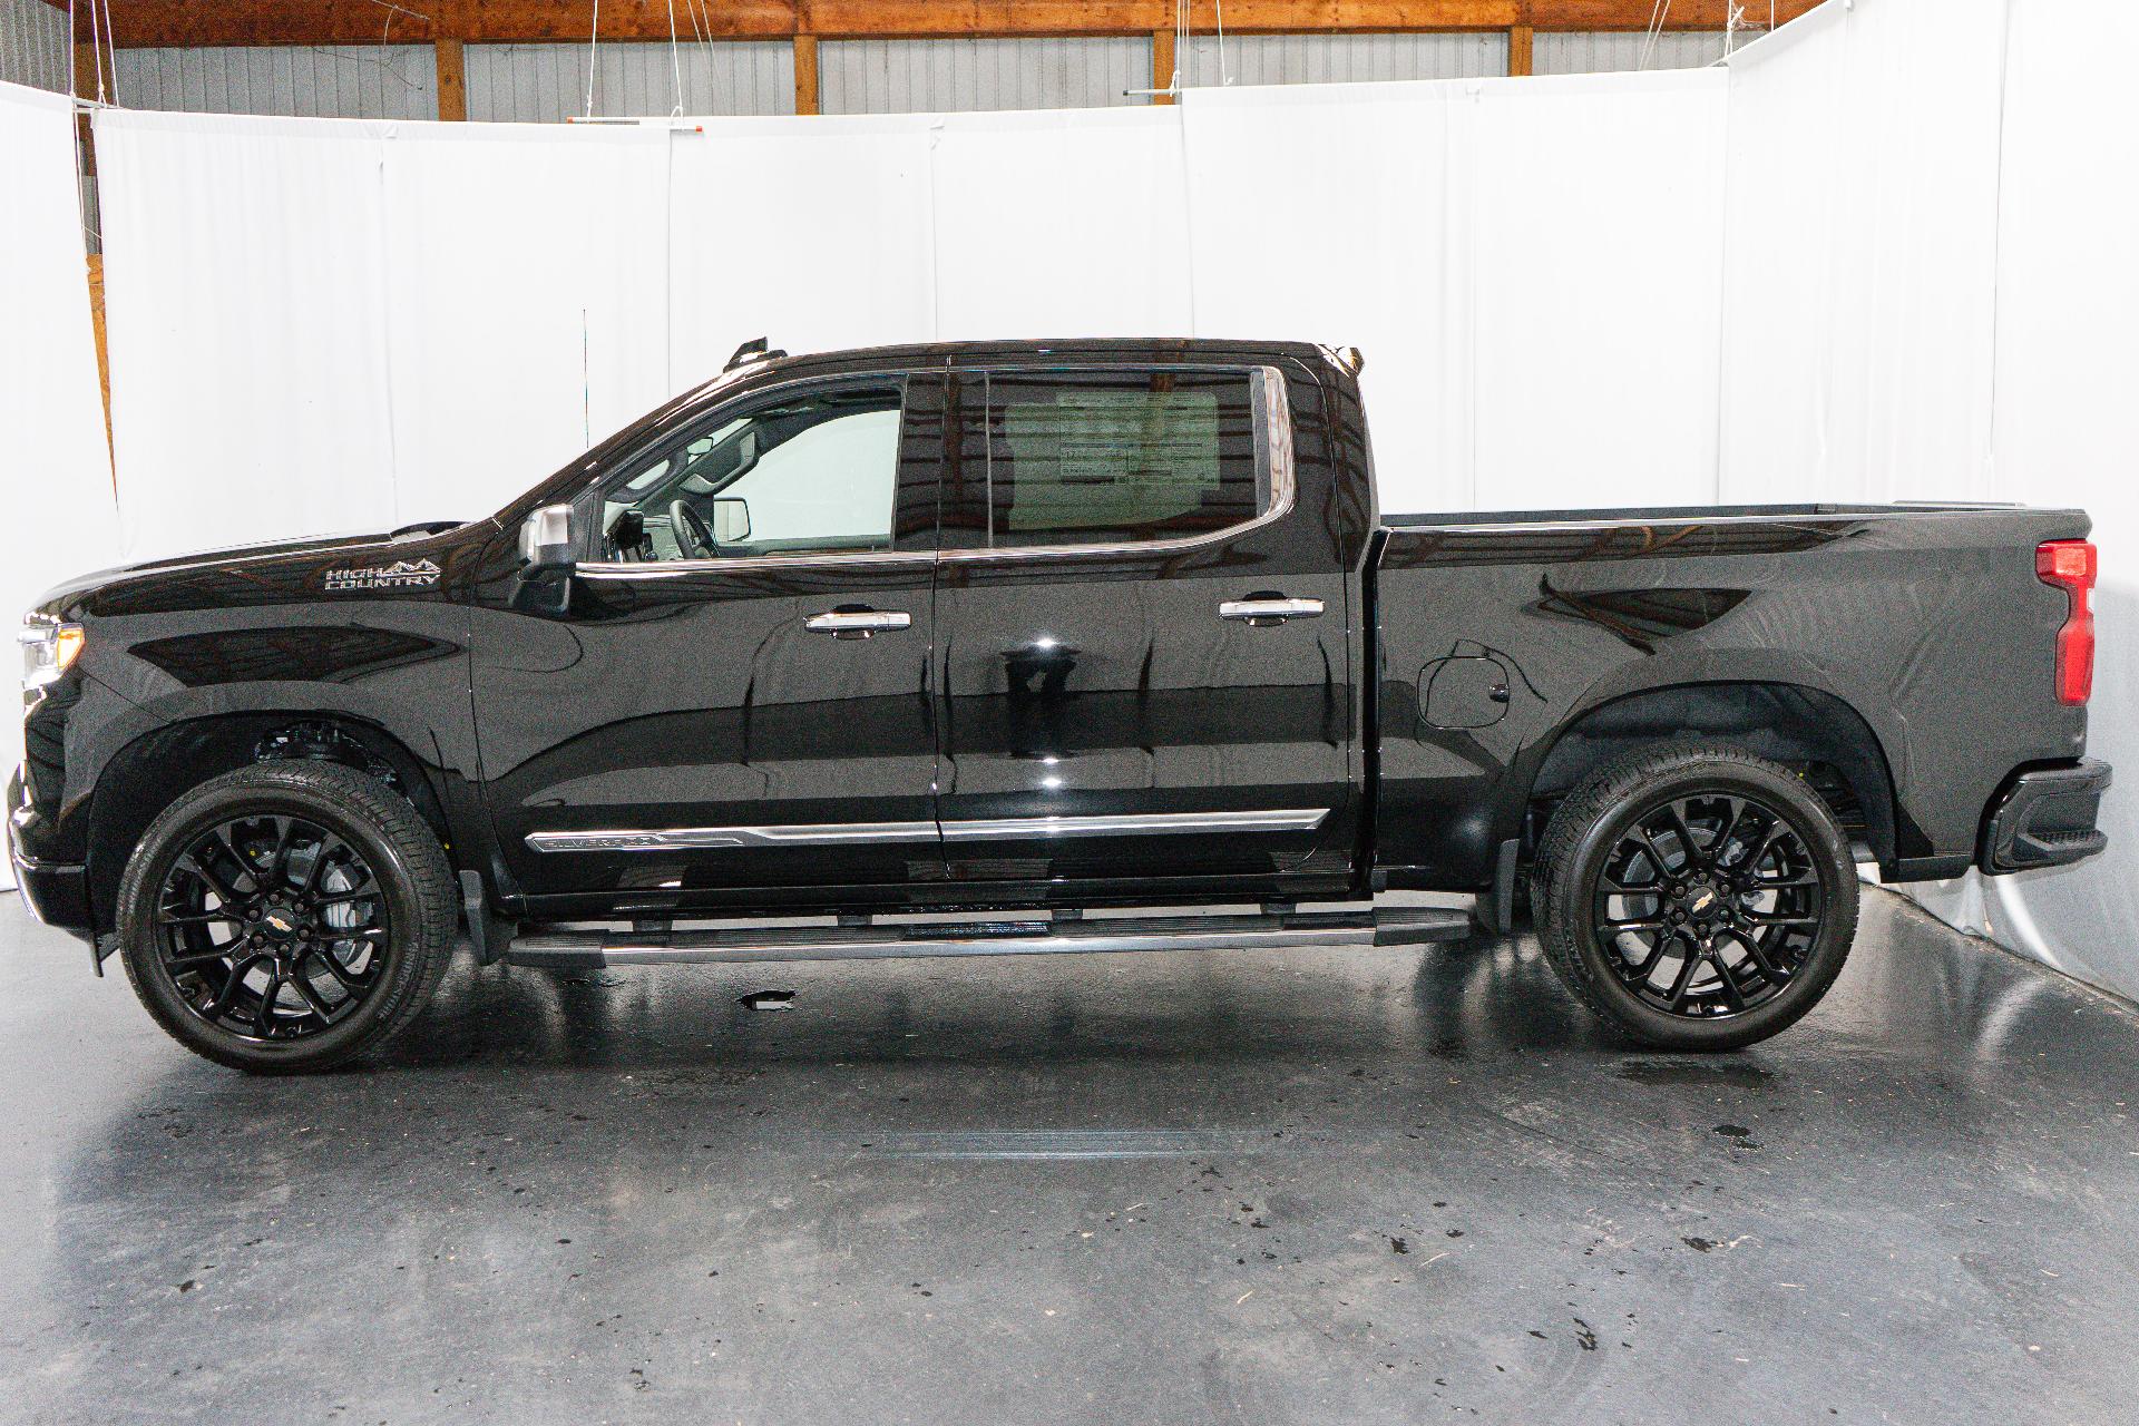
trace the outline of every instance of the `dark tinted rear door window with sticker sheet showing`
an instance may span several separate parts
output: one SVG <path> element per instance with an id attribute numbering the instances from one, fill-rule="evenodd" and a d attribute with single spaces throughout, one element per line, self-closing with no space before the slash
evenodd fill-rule
<path id="1" fill-rule="evenodd" d="M 999 549 L 1206 534 L 1253 520 L 1264 487 L 1247 372 L 986 378 L 984 490 Z"/>

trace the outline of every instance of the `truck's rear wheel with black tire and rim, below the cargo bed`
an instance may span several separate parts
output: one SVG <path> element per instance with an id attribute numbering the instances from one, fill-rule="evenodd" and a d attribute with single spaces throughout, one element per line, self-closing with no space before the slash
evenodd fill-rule
<path id="1" fill-rule="evenodd" d="M 1546 962 L 1609 1024 L 1666 1050 L 1739 1050 L 1795 1024 L 1842 973 L 1857 864 L 1788 768 L 1668 746 L 1559 804 L 1532 913 Z"/>

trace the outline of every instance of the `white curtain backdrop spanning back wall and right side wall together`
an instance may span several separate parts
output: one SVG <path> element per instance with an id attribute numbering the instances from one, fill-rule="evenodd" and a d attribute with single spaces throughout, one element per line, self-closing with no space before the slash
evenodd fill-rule
<path id="1" fill-rule="evenodd" d="M 759 334 L 1311 338 L 1367 351 L 1392 511 L 2086 505 L 2135 780 L 2133 41 L 1857 0 L 1728 71 L 1170 109 L 98 113 L 124 552 L 494 509 Z M 2139 994 L 2126 808 L 2088 868 L 1925 900 Z"/>

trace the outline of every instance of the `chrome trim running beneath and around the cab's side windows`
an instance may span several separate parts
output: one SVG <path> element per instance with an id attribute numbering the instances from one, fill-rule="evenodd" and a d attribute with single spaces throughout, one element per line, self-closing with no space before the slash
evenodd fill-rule
<path id="1" fill-rule="evenodd" d="M 1198 372 L 1247 372 L 1249 391 L 1256 410 L 1262 421 L 1256 425 L 1256 458 L 1271 472 L 1271 507 L 1251 520 L 1230 524 L 1224 530 L 1206 530 L 1204 534 L 1176 534 L 1172 539 L 1138 539 L 1138 541 L 1117 541 L 1117 543 L 1093 543 L 1093 545 L 1020 545 L 1012 549 L 871 549 L 856 554 L 821 554 L 821 556 L 787 556 L 787 554 L 757 554 L 736 560 L 655 560 L 646 562 L 586 562 L 580 564 L 575 573 L 588 579 L 682 579 L 687 575 L 706 573 L 727 573 L 727 571 L 759 571 L 759 569 L 821 569 L 821 567 L 849 567 L 849 564 L 896 564 L 896 562 L 933 562 L 933 560 L 1061 560 L 1078 556 L 1108 556 L 1108 554 L 1179 554 L 1183 549 L 1200 549 L 1204 545 L 1217 545 L 1226 541 L 1241 539 L 1253 530 L 1275 524 L 1292 513 L 1298 500 L 1298 472 L 1294 470 L 1292 455 L 1292 400 L 1286 393 L 1286 374 L 1275 366 L 1234 366 L 1221 361 L 1189 361 L 1189 363 L 1134 363 L 1134 366 L 1061 366 L 1061 368 L 997 368 L 1027 372 L 1108 372 L 1108 370 L 1198 370 Z M 924 372 L 935 372 L 939 368 L 924 368 Z M 980 368 L 975 368 L 980 370 Z M 883 372 L 886 376 L 913 376 L 913 370 Z M 952 372 L 958 376 L 963 372 Z M 866 381 L 866 376 L 862 376 Z M 749 391 L 749 398 L 757 398 L 772 391 L 783 391 L 787 387 L 804 387 L 813 383 L 824 383 L 828 378 L 813 376 L 804 381 L 791 381 L 772 387 L 759 387 Z M 853 381 L 845 376 L 843 381 Z M 708 413 L 719 415 L 719 413 Z"/>

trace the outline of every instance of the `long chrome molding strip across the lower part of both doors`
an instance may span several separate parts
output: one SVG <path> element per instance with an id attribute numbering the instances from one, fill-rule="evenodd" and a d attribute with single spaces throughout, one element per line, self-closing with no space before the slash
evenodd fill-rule
<path id="1" fill-rule="evenodd" d="M 988 817 L 978 821 L 856 821 L 764 827 L 610 827 L 528 832 L 530 851 L 721 851 L 738 847 L 858 847 L 875 842 L 1001 842 L 1052 836 L 1172 836 L 1187 832 L 1313 832 L 1328 808 L 1260 812 L 1123 812 L 1095 817 Z"/>

